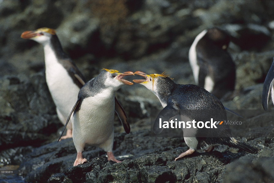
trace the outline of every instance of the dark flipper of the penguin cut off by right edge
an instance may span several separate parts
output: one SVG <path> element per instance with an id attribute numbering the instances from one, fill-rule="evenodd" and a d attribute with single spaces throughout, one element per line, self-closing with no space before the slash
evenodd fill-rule
<path id="1" fill-rule="evenodd" d="M 265 111 L 267 110 L 267 105 L 268 105 L 268 95 L 270 91 L 270 86 L 273 82 L 274 79 L 274 58 L 272 65 L 266 75 L 264 86 L 263 86 L 263 93 L 262 93 L 262 105 Z"/>

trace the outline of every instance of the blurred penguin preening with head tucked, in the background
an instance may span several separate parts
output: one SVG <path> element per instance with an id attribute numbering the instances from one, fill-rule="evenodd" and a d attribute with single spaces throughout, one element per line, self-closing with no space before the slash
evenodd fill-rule
<path id="1" fill-rule="evenodd" d="M 218 28 L 202 31 L 189 50 L 196 85 L 221 99 L 235 87 L 235 64 L 227 52 L 229 35 Z"/>

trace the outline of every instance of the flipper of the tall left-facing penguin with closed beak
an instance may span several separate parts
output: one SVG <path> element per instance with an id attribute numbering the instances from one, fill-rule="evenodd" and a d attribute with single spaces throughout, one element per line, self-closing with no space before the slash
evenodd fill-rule
<path id="1" fill-rule="evenodd" d="M 69 76 L 72 78 L 73 82 L 79 87 L 82 88 L 86 82 L 83 74 L 77 68 L 77 66 L 70 59 L 62 59 L 61 64 L 67 70 Z"/>

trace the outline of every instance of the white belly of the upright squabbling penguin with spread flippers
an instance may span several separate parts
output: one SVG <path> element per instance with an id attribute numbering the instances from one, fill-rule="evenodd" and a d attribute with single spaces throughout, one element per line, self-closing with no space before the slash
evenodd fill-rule
<path id="1" fill-rule="evenodd" d="M 73 114 L 75 146 L 88 144 L 112 149 L 114 105 L 114 93 L 108 90 L 83 100 L 80 110 Z"/>

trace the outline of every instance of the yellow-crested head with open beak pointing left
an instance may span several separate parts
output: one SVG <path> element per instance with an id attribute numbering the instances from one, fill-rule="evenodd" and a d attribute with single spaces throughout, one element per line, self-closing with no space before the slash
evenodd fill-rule
<path id="1" fill-rule="evenodd" d="M 157 93 L 157 86 L 160 86 L 161 88 L 168 85 L 170 82 L 174 83 L 171 78 L 169 78 L 164 73 L 162 74 L 146 74 L 141 71 L 136 71 L 134 74 L 137 74 L 139 76 L 145 77 L 145 79 L 137 79 L 133 80 L 135 83 L 139 83 L 144 85 L 146 88 L 148 88 L 150 91 Z"/>

